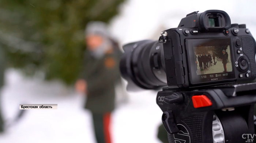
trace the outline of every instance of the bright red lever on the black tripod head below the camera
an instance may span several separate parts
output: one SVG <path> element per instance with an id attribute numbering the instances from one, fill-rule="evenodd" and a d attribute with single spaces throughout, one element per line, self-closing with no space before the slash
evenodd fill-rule
<path id="1" fill-rule="evenodd" d="M 195 95 L 192 101 L 195 108 L 212 106 L 211 100 L 205 95 Z"/>

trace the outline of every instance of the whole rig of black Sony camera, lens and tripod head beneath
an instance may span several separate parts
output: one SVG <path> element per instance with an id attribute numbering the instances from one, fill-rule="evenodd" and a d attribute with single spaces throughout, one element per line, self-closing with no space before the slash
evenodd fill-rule
<path id="1" fill-rule="evenodd" d="M 158 41 L 123 49 L 127 90 L 168 86 L 157 104 L 169 143 L 253 142 L 256 43 L 245 24 L 220 10 L 192 12 Z"/>

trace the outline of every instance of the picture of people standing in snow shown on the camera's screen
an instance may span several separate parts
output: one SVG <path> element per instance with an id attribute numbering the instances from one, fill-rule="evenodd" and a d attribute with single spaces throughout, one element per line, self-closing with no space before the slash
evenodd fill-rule
<path id="1" fill-rule="evenodd" d="M 217 74 L 231 72 L 230 46 L 203 46 L 193 47 L 196 63 L 196 74 Z"/>

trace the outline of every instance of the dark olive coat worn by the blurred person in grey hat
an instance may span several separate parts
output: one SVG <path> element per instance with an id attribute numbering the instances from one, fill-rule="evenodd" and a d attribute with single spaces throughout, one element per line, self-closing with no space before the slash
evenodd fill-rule
<path id="1" fill-rule="evenodd" d="M 101 59 L 86 54 L 86 65 L 82 79 L 87 82 L 85 108 L 93 113 L 103 114 L 114 110 L 115 84 L 121 82 L 119 73 L 120 53 L 113 52 Z"/>

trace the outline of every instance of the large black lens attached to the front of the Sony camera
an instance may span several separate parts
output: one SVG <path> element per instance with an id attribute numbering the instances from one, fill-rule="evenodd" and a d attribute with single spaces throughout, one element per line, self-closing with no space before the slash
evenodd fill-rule
<path id="1" fill-rule="evenodd" d="M 123 49 L 120 71 L 128 81 L 127 90 L 167 86 L 162 43 L 144 40 L 124 45 Z"/>

